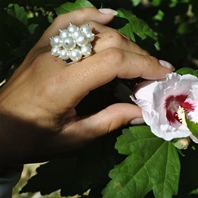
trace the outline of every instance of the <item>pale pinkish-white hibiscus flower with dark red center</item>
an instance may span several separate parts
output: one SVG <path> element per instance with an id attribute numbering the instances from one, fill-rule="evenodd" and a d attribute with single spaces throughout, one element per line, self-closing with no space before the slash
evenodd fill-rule
<path id="1" fill-rule="evenodd" d="M 196 138 L 178 117 L 183 108 L 188 119 L 198 122 L 198 78 L 186 74 L 168 74 L 165 80 L 145 81 L 137 85 L 132 100 L 141 107 L 151 131 L 167 141 L 175 138 Z"/>

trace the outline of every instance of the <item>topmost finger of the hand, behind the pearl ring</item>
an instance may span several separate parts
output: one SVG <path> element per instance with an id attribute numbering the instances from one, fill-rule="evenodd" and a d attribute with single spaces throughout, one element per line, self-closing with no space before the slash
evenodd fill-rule
<path id="1" fill-rule="evenodd" d="M 45 31 L 36 46 L 44 47 L 48 45 L 49 38 L 59 34 L 59 29 L 67 28 L 69 23 L 73 23 L 78 26 L 85 23 L 87 20 L 94 20 L 101 24 L 107 24 L 113 19 L 113 17 L 113 14 L 104 14 L 96 8 L 84 8 L 67 14 L 61 14 L 56 17 L 54 22 Z"/>

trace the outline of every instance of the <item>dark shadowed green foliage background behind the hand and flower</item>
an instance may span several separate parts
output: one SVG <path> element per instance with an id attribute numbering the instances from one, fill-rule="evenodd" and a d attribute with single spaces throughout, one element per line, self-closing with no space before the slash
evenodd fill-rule
<path id="1" fill-rule="evenodd" d="M 0 83 L 9 79 L 56 17 L 56 11 L 60 9 L 55 8 L 66 2 L 74 1 L 0 1 Z M 97 8 L 110 7 L 119 10 L 122 8 L 133 13 L 155 32 L 155 36 L 150 37 L 139 35 L 139 30 L 136 29 L 132 39 L 138 45 L 158 59 L 171 62 L 177 69 L 181 67 L 197 69 L 197 0 L 91 0 L 90 2 Z M 125 19 L 116 18 L 109 25 L 120 29 L 125 22 Z M 123 31 L 126 33 L 126 30 Z M 130 102 L 128 95 L 133 84 L 133 81 L 116 79 L 91 92 L 77 107 L 78 114 L 93 113 L 115 102 Z M 95 105 L 90 107 L 89 104 L 93 100 Z M 67 156 L 51 161 L 47 166 L 41 166 L 38 169 L 41 174 L 31 180 L 23 191 L 42 191 L 42 194 L 50 194 L 61 189 L 61 194 L 68 196 L 81 195 L 91 189 L 89 197 L 101 197 L 101 191 L 110 181 L 109 171 L 126 158 L 125 153 L 120 155 L 114 148 L 121 133 L 122 129 L 119 129 L 88 145 L 75 156 Z M 179 191 L 174 197 L 197 196 L 197 152 L 187 150 L 184 154 L 185 157 L 179 156 L 182 164 L 181 176 Z M 189 163 L 192 161 L 193 163 Z M 152 192 L 146 194 L 146 197 L 154 197 Z M 168 197 L 171 196 L 166 198 Z"/>

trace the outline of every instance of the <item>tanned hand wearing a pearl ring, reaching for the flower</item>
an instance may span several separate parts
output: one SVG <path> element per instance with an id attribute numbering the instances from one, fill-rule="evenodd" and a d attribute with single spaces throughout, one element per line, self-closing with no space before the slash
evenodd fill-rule
<path id="1" fill-rule="evenodd" d="M 139 107 L 127 103 L 86 117 L 78 117 L 75 110 L 91 90 L 116 77 L 160 79 L 172 72 L 118 31 L 104 26 L 112 19 L 112 14 L 94 8 L 60 15 L 29 52 L 0 92 L 2 164 L 49 160 L 142 117 Z M 49 38 L 70 22 L 88 23 L 96 38 L 93 55 L 67 66 L 51 56 Z"/>

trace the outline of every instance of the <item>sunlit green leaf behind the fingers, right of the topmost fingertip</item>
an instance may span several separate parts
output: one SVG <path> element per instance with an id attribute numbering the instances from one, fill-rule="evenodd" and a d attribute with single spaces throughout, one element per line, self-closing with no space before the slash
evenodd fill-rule
<path id="1" fill-rule="evenodd" d="M 128 20 L 128 23 L 120 28 L 119 31 L 130 37 L 134 42 L 136 41 L 134 34 L 137 34 L 142 40 L 150 37 L 157 41 L 155 32 L 142 19 L 137 18 L 131 12 L 124 9 L 118 10 L 118 16 Z"/>

